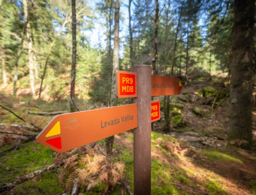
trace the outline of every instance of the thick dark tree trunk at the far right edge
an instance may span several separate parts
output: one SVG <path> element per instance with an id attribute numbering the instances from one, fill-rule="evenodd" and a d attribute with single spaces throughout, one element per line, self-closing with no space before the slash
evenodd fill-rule
<path id="1" fill-rule="evenodd" d="M 232 61 L 230 80 L 230 124 L 231 140 L 246 140 L 242 147 L 252 144 L 252 89 L 254 48 L 255 0 L 235 0 L 234 26 L 232 33 Z"/>

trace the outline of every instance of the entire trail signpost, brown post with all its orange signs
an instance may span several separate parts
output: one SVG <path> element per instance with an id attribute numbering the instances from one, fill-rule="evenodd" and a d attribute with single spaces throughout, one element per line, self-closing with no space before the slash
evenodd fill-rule
<path id="1" fill-rule="evenodd" d="M 160 119 L 160 101 L 151 96 L 178 95 L 178 78 L 151 75 L 151 66 L 117 71 L 117 96 L 135 97 L 134 104 L 58 115 L 36 137 L 56 152 L 134 129 L 134 194 L 151 193 L 151 122 Z"/>

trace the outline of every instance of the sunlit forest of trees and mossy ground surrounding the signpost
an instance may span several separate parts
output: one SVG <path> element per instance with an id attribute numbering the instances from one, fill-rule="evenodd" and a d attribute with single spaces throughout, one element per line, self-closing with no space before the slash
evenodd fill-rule
<path id="1" fill-rule="evenodd" d="M 255 6 L 0 0 L 0 194 L 256 194 Z M 117 97 L 117 70 L 139 65 L 182 84 L 151 97 L 144 193 L 138 128 L 63 153 L 36 142 L 55 116 L 136 103 Z"/>

